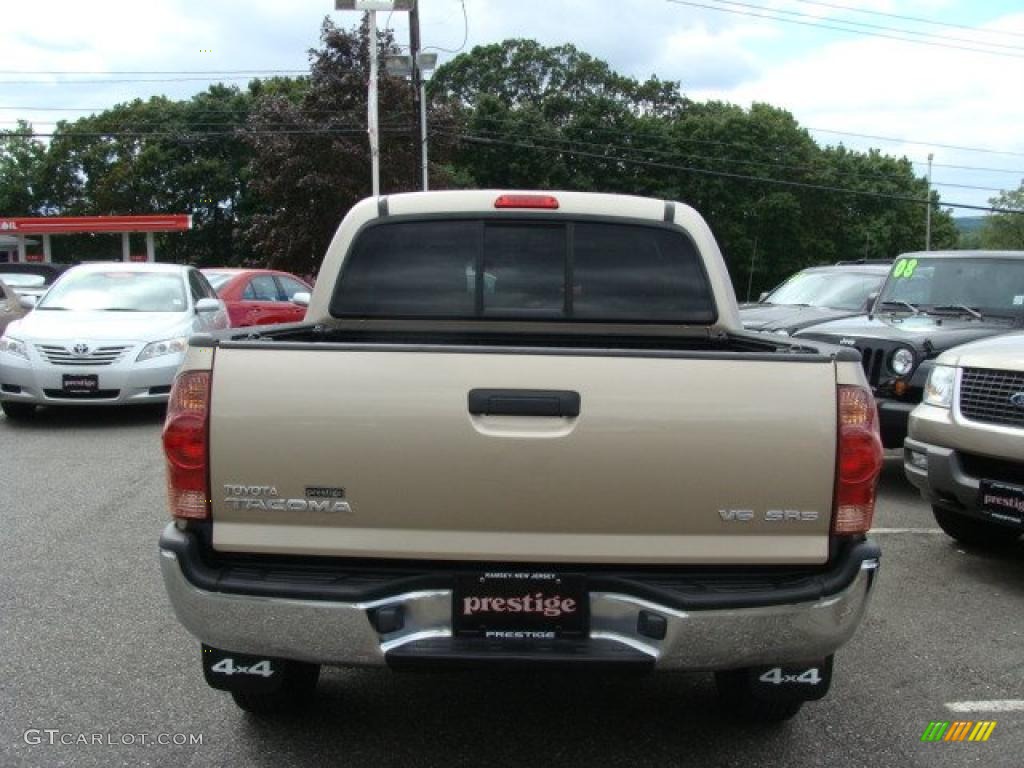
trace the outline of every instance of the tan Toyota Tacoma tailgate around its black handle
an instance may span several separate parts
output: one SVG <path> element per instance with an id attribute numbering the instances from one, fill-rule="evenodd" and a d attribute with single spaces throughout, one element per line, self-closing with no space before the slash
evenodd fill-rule
<path id="1" fill-rule="evenodd" d="M 580 413 L 474 415 L 481 388 L 577 392 Z M 837 428 L 824 357 L 240 345 L 217 350 L 212 398 L 220 551 L 827 558 Z"/>

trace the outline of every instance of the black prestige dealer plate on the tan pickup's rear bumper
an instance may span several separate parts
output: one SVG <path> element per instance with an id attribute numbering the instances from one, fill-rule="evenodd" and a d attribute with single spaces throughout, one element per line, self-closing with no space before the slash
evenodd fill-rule
<path id="1" fill-rule="evenodd" d="M 452 628 L 457 637 L 492 640 L 585 638 L 590 632 L 587 579 L 532 570 L 459 574 Z"/>

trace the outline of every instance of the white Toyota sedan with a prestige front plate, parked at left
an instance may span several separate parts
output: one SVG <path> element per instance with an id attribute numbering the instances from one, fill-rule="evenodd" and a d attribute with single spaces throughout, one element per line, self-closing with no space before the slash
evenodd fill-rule
<path id="1" fill-rule="evenodd" d="M 166 402 L 188 337 L 227 328 L 206 278 L 177 264 L 69 269 L 0 338 L 0 408 Z"/>

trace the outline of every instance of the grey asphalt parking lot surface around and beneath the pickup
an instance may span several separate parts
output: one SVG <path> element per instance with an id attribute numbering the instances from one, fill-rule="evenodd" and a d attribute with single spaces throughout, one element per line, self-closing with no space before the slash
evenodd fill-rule
<path id="1" fill-rule="evenodd" d="M 868 617 L 837 655 L 829 696 L 787 724 L 728 720 L 705 675 L 338 670 L 312 712 L 254 719 L 206 687 L 164 597 L 162 418 L 0 417 L 0 765 L 1022 764 L 1024 712 L 947 705 L 1024 698 L 1024 545 L 993 555 L 936 532 L 895 460 Z M 923 743 L 933 720 L 997 725 L 984 743 Z"/>

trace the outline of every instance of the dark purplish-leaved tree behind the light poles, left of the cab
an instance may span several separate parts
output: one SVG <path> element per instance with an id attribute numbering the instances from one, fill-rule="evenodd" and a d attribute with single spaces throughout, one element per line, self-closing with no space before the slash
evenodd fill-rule
<path id="1" fill-rule="evenodd" d="M 359 30 L 345 30 L 325 19 L 321 47 L 309 52 L 308 87 L 300 94 L 266 93 L 257 99 L 246 130 L 256 206 L 246 240 L 262 262 L 315 271 L 341 218 L 370 195 L 368 46 L 366 22 Z M 378 47 L 381 55 L 398 51 L 390 33 L 380 35 Z M 411 85 L 382 74 L 378 104 L 381 190 L 416 189 Z M 433 111 L 430 120 L 443 134 L 442 112 Z M 443 142 L 435 142 L 433 152 L 442 153 Z M 432 184 L 443 185 L 443 178 L 433 174 Z"/>

